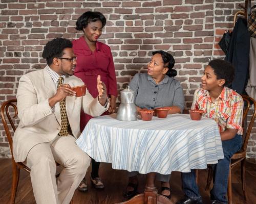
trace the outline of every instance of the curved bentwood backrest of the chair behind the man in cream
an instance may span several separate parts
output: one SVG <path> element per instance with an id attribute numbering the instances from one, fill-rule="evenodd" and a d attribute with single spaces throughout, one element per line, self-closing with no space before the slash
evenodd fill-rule
<path id="1" fill-rule="evenodd" d="M 13 132 L 15 132 L 16 127 L 14 125 L 13 119 L 17 118 L 17 115 L 18 115 L 16 103 L 17 103 L 17 99 L 10 99 L 10 100 L 5 101 L 3 103 L 3 105 L 1 106 L 1 118 L 2 118 L 2 122 L 4 124 L 4 127 L 5 127 L 5 132 L 6 132 L 7 139 L 8 139 L 9 145 L 10 145 L 11 154 L 12 154 L 12 135 L 11 135 L 11 131 L 8 126 L 8 122 L 10 123 Z M 14 109 L 14 112 L 11 112 L 11 110 L 9 110 L 10 106 Z M 14 116 L 11 116 L 13 114 L 14 114 Z"/>

